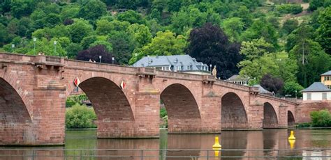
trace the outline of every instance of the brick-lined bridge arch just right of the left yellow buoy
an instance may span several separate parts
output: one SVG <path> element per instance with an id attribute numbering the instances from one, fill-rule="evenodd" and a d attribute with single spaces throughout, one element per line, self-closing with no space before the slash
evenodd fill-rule
<path id="1" fill-rule="evenodd" d="M 244 129 L 248 125 L 247 113 L 242 99 L 236 93 L 226 93 L 221 98 L 222 129 Z"/>

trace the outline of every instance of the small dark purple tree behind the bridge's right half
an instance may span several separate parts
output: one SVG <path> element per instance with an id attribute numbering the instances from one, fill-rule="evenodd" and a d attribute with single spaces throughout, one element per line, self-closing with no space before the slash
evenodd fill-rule
<path id="1" fill-rule="evenodd" d="M 283 79 L 273 77 L 271 74 L 265 74 L 260 81 L 260 85 L 270 92 L 281 94 L 284 81 Z"/>

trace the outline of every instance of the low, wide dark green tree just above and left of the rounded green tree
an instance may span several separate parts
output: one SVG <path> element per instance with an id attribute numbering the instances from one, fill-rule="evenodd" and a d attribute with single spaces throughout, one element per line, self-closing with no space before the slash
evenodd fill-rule
<path id="1" fill-rule="evenodd" d="M 146 24 L 146 19 L 140 15 L 140 13 L 135 12 L 134 10 L 128 10 L 124 13 L 119 13 L 117 15 L 119 21 L 126 21 L 130 24 Z"/>

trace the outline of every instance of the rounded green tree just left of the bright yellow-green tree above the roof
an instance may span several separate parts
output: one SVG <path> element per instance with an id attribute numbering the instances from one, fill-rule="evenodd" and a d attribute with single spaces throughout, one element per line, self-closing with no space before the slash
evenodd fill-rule
<path id="1" fill-rule="evenodd" d="M 138 43 L 137 47 L 143 47 L 152 41 L 152 33 L 142 24 L 131 24 L 128 26 L 128 33 Z"/>

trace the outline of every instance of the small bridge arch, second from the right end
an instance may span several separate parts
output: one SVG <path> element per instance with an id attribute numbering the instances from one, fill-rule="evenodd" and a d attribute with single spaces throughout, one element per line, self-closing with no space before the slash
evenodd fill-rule
<path id="1" fill-rule="evenodd" d="M 269 102 L 263 104 L 263 128 L 277 128 L 278 118 L 274 106 Z"/>

